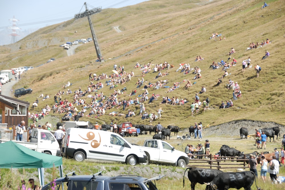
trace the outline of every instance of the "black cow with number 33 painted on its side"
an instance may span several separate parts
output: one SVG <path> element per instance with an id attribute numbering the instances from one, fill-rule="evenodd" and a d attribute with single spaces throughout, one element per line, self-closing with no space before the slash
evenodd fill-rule
<path id="1" fill-rule="evenodd" d="M 255 181 L 255 175 L 251 171 L 245 172 L 224 172 L 218 174 L 213 181 L 205 183 L 210 186 L 210 189 L 223 189 L 228 190 L 229 188 L 240 189 L 244 188 L 245 190 L 251 190 L 251 185 Z M 256 185 L 257 187 L 257 185 Z M 260 189 L 257 187 L 257 189 Z"/>

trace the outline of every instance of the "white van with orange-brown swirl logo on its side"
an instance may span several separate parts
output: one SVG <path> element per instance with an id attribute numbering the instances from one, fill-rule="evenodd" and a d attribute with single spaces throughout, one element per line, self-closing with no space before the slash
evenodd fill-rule
<path id="1" fill-rule="evenodd" d="M 77 161 L 88 158 L 126 162 L 133 166 L 147 161 L 144 151 L 117 133 L 81 128 L 66 130 L 62 154 Z"/>

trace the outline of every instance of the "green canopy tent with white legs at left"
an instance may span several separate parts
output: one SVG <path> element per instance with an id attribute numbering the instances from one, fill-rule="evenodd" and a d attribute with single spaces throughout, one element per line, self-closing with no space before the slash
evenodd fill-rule
<path id="1" fill-rule="evenodd" d="M 3 154 L 0 168 L 38 168 L 40 186 L 44 186 L 44 168 L 58 166 L 60 177 L 63 177 L 62 157 L 39 153 L 13 141 L 0 143 Z"/>

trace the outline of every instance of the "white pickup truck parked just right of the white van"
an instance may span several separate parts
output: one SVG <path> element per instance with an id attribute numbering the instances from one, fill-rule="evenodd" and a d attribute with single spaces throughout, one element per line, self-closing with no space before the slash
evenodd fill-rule
<path id="1" fill-rule="evenodd" d="M 148 162 L 155 162 L 173 164 L 185 168 L 189 163 L 189 157 L 186 153 L 175 150 L 174 147 L 162 140 L 146 140 L 143 146 L 138 147 L 143 150 L 148 157 L 148 161 L 142 163 L 143 165 L 147 165 Z"/>

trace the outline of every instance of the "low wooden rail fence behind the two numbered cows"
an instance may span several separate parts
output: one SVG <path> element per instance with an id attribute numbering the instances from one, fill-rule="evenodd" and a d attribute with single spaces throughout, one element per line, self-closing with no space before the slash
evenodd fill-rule
<path id="1" fill-rule="evenodd" d="M 201 156 L 202 159 L 194 158 L 189 159 L 189 164 L 187 166 L 191 167 L 210 167 L 220 169 L 237 169 L 237 168 L 248 168 L 248 164 L 246 161 L 249 159 L 245 158 L 245 154 L 243 155 L 243 159 L 238 159 L 240 157 L 231 157 L 231 156 L 213 156 L 212 154 L 201 154 L 196 155 L 195 157 Z M 205 156 L 208 156 L 208 159 L 204 159 Z M 237 162 L 238 161 L 238 162 Z M 239 163 L 242 162 L 242 163 Z M 206 165 L 207 163 L 208 165 Z"/>

